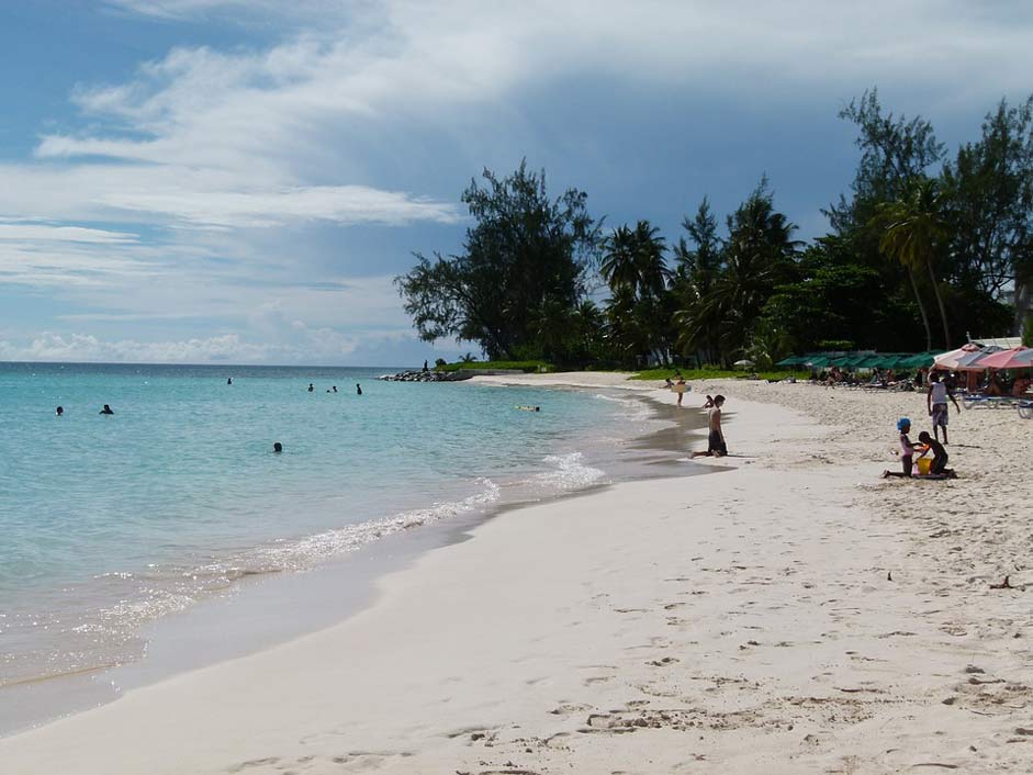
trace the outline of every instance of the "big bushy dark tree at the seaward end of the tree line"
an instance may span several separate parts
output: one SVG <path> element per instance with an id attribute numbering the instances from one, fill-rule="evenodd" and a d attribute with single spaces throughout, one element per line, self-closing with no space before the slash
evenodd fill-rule
<path id="1" fill-rule="evenodd" d="M 490 358 L 518 348 L 554 353 L 554 333 L 585 295 L 598 226 L 587 195 L 569 189 L 550 200 L 544 172 L 526 162 L 506 178 L 483 172 L 462 195 L 474 225 L 463 252 L 416 266 L 395 279 L 420 338 L 475 341 Z"/>

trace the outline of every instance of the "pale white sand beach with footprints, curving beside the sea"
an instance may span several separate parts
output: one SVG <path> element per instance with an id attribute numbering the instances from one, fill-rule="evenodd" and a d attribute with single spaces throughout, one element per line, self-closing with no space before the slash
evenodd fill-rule
<path id="1" fill-rule="evenodd" d="M 705 392 L 720 473 L 506 512 L 329 629 L 0 740 L 0 770 L 1033 771 L 1033 422 L 952 411 L 961 479 L 884 481 L 921 394 L 705 382 L 684 411 Z"/>

